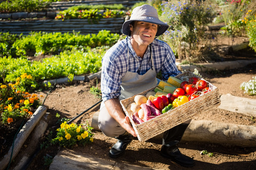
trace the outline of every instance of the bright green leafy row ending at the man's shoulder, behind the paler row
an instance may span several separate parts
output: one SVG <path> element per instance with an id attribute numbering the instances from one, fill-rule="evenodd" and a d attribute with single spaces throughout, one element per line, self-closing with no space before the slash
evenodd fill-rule
<path id="1" fill-rule="evenodd" d="M 0 34 L 0 40 L 3 46 L 7 38 L 6 34 Z M 10 37 L 10 35 L 9 35 Z M 83 35 L 80 33 L 45 33 L 45 32 L 31 32 L 29 35 L 19 36 L 14 40 L 8 42 L 8 47 L 5 49 L 3 56 L 23 57 L 27 55 L 46 55 L 58 54 L 60 51 L 72 50 L 73 48 L 79 49 L 82 47 L 90 46 L 95 48 L 102 45 L 113 45 L 119 39 L 119 34 L 110 33 L 110 31 L 101 30 L 98 34 Z M 11 45 L 12 43 L 12 45 Z"/>

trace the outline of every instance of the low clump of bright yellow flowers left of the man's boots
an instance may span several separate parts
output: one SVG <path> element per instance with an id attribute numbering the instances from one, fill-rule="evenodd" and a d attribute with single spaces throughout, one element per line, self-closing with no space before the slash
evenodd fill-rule
<path id="1" fill-rule="evenodd" d="M 73 123 L 69 125 L 65 121 L 60 125 L 60 128 L 57 129 L 56 137 L 52 140 L 52 143 L 69 148 L 76 144 L 85 146 L 85 144 L 93 142 L 92 129 L 89 124 L 86 126 L 78 126 Z"/>

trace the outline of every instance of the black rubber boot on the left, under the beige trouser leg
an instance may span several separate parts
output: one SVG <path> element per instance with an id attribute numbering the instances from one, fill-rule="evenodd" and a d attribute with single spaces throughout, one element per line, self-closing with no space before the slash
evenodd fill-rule
<path id="1" fill-rule="evenodd" d="M 115 138 L 117 138 L 118 141 L 110 149 L 109 156 L 111 158 L 117 158 L 121 156 L 125 152 L 127 145 L 133 140 L 133 136 L 128 132 L 125 132 L 123 135 Z"/>

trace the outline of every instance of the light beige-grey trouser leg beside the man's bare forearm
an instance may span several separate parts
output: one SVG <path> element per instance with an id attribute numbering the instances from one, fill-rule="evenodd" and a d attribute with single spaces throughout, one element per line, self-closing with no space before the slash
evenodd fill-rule
<path id="1" fill-rule="evenodd" d="M 98 118 L 98 125 L 102 133 L 109 137 L 118 137 L 126 132 L 126 130 L 110 116 L 106 106 L 102 103 Z"/>

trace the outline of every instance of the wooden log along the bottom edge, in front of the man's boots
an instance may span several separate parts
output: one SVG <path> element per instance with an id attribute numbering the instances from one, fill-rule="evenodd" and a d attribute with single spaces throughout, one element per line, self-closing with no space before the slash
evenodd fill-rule
<path id="1" fill-rule="evenodd" d="M 49 170 L 158 170 L 119 161 L 104 160 L 88 154 L 73 154 L 60 151 L 53 159 Z"/>

